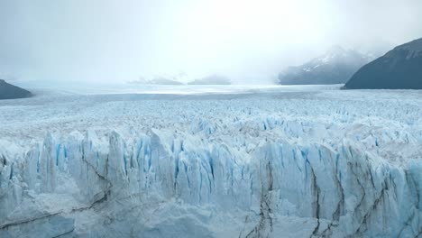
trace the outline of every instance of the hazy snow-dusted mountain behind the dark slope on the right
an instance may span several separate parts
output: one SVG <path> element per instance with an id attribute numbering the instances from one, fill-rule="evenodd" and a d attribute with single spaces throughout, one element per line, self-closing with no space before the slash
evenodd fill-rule
<path id="1" fill-rule="evenodd" d="M 307 63 L 289 67 L 279 75 L 281 85 L 344 84 L 372 56 L 357 50 L 344 50 L 334 46 L 327 52 Z"/>

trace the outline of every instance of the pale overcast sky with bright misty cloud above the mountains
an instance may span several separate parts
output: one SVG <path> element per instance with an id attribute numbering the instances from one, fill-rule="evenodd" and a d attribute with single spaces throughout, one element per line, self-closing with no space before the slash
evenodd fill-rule
<path id="1" fill-rule="evenodd" d="M 0 0 L 0 75 L 263 83 L 334 44 L 379 52 L 421 38 L 421 14 L 420 0 Z"/>

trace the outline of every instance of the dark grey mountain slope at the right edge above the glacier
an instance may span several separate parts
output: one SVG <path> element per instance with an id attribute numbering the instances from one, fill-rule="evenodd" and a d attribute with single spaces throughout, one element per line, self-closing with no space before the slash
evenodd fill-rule
<path id="1" fill-rule="evenodd" d="M 422 38 L 400 45 L 363 66 L 344 87 L 422 89 Z"/>

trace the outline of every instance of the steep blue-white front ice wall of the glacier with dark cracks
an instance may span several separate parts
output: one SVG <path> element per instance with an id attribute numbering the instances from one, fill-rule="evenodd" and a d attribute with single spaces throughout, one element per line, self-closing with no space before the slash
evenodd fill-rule
<path id="1" fill-rule="evenodd" d="M 198 130 L 212 133 L 206 128 Z M 394 165 L 347 139 L 269 140 L 247 152 L 200 140 L 155 129 L 134 139 L 88 131 L 49 134 L 22 158 L 0 154 L 0 236 L 422 232 L 421 160 Z"/>

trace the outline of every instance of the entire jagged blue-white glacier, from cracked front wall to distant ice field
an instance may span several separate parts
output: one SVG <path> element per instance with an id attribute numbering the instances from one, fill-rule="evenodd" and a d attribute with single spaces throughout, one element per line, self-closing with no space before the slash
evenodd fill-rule
<path id="1" fill-rule="evenodd" d="M 422 92 L 0 102 L 0 237 L 420 237 Z"/>

